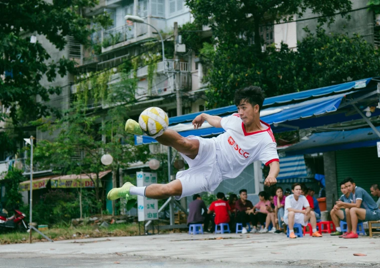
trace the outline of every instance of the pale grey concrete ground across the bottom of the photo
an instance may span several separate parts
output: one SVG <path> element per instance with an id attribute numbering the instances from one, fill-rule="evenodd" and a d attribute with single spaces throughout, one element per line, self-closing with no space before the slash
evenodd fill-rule
<path id="1" fill-rule="evenodd" d="M 367 256 L 357 257 L 362 253 Z M 115 263 L 116 262 L 116 263 Z M 0 268 L 380 268 L 380 239 L 168 234 L 0 246 Z"/>

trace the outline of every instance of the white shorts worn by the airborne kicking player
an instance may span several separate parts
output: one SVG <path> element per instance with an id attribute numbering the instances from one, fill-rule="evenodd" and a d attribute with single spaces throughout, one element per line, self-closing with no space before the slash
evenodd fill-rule
<path id="1" fill-rule="evenodd" d="M 201 192 L 214 191 L 222 182 L 222 174 L 216 160 L 215 141 L 197 136 L 188 136 L 186 138 L 199 140 L 199 151 L 194 159 L 181 154 L 189 164 L 189 169 L 177 173 L 176 178 L 182 184 L 182 195 L 176 196 L 176 200 Z"/>

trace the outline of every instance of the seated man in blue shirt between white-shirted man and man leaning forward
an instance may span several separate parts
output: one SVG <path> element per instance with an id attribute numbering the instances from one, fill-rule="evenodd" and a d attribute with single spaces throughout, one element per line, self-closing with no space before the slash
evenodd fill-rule
<path id="1" fill-rule="evenodd" d="M 341 192 L 342 196 L 339 198 L 340 201 L 344 203 L 351 203 L 353 201 L 353 194 L 346 187 L 346 180 L 341 182 Z M 335 205 L 334 208 L 330 211 L 331 220 L 336 226 L 336 232 L 331 233 L 332 236 L 342 236 L 343 232 L 341 229 L 340 221 L 347 223 L 346 209 L 343 206 Z"/>

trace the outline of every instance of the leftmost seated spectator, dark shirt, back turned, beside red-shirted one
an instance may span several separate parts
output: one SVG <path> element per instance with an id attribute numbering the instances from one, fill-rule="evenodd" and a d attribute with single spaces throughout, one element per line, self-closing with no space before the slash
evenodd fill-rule
<path id="1" fill-rule="evenodd" d="M 203 215 L 202 215 L 203 209 Z M 207 215 L 207 207 L 202 197 L 198 194 L 193 195 L 193 201 L 189 204 L 189 216 L 187 216 L 187 226 L 190 224 L 203 224 L 204 230 L 208 232 L 210 217 Z"/>

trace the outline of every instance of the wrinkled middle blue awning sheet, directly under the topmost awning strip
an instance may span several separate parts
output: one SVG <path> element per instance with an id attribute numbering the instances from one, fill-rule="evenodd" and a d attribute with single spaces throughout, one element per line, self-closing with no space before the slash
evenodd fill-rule
<path id="1" fill-rule="evenodd" d="M 312 100 L 304 101 L 297 104 L 290 104 L 290 105 L 279 106 L 276 108 L 264 109 L 262 111 L 263 113 L 268 112 L 268 111 L 270 112 L 271 110 L 274 110 L 274 109 L 278 110 L 279 112 L 275 112 L 267 116 L 263 116 L 261 117 L 261 120 L 272 125 L 274 123 L 284 123 L 287 121 L 297 120 L 300 118 L 308 118 L 308 117 L 313 117 L 316 115 L 323 115 L 326 113 L 335 112 L 337 111 L 342 99 L 345 97 L 345 94 L 346 93 L 329 96 L 329 97 L 318 98 L 318 99 L 312 99 Z M 236 112 L 236 106 L 235 106 L 234 112 Z M 192 118 L 191 120 L 193 119 L 194 118 Z M 207 137 L 207 136 L 218 135 L 223 132 L 224 132 L 223 128 L 214 128 L 214 127 L 178 131 L 178 133 L 184 137 L 189 136 L 189 135 Z M 148 136 L 135 136 L 135 145 L 149 144 L 152 142 L 156 142 L 156 140 Z"/>

